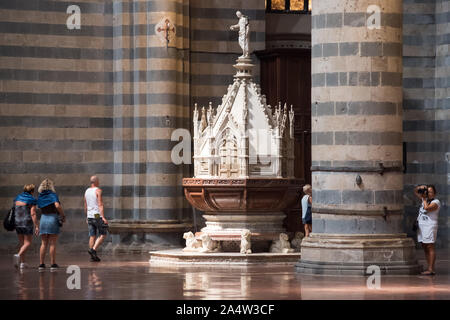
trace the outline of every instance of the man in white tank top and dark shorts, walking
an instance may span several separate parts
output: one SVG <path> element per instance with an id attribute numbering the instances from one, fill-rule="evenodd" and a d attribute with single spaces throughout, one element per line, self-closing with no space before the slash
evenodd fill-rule
<path id="1" fill-rule="evenodd" d="M 106 238 L 108 220 L 103 210 L 102 190 L 98 187 L 100 181 L 97 176 L 90 179 L 91 186 L 84 193 L 84 210 L 89 228 L 89 250 L 91 261 L 98 262 L 97 249 Z"/>

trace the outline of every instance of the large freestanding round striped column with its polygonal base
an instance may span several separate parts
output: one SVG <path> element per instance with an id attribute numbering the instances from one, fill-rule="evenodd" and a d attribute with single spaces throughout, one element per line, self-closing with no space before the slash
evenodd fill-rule
<path id="1" fill-rule="evenodd" d="M 380 9 L 372 20 L 368 7 Z M 379 22 L 379 27 L 369 28 Z M 403 233 L 402 1 L 323 0 L 312 12 L 313 233 L 303 273 L 415 273 Z"/>

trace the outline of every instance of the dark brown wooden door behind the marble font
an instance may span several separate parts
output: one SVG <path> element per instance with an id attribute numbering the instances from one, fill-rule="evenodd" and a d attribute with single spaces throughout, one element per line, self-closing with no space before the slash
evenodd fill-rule
<path id="1" fill-rule="evenodd" d="M 311 184 L 311 50 L 272 49 L 256 52 L 261 63 L 261 91 L 271 106 L 279 101 L 295 113 L 294 175 Z M 301 204 L 288 210 L 287 231 L 303 231 Z"/>

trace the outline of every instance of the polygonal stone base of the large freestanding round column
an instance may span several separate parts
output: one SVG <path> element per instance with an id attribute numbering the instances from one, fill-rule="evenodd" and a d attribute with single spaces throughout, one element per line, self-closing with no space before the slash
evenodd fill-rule
<path id="1" fill-rule="evenodd" d="M 304 274 L 371 275 L 371 265 L 383 275 L 418 274 L 415 245 L 406 234 L 317 234 L 304 238 L 295 269 Z"/>

